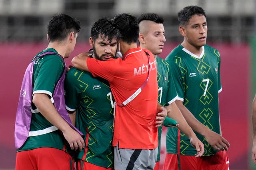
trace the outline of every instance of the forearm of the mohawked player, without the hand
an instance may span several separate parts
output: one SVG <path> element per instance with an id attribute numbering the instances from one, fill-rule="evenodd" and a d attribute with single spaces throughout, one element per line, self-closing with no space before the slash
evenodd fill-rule
<path id="1" fill-rule="evenodd" d="M 182 131 L 189 138 L 196 136 L 192 128 L 188 125 L 187 121 L 183 117 L 182 113 L 180 112 L 180 109 L 177 107 L 175 102 L 173 102 L 169 106 L 166 106 L 166 109 L 170 109 L 170 112 L 168 113 L 167 117 L 170 117 L 178 121 L 178 128 L 180 129 L 180 131 Z"/>

